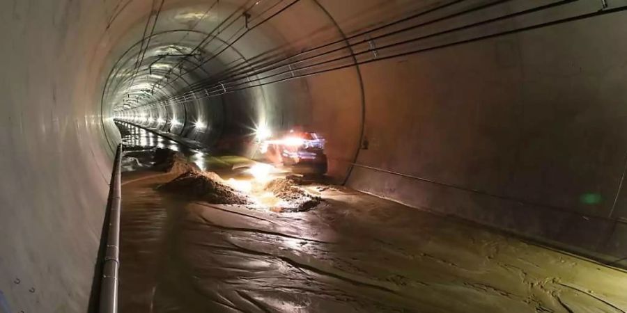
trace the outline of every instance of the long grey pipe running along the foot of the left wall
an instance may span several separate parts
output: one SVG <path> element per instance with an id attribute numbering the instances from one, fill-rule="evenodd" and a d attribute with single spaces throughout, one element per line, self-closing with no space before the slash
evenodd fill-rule
<path id="1" fill-rule="evenodd" d="M 111 207 L 109 212 L 109 230 L 107 250 L 102 264 L 100 285 L 100 313 L 118 312 L 118 270 L 120 268 L 120 210 L 121 195 L 122 144 L 118 145 L 114 162 L 114 175 L 111 180 Z"/>

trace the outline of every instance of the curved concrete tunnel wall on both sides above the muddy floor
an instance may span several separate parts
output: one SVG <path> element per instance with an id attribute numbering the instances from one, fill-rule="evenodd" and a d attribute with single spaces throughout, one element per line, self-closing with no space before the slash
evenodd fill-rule
<path id="1" fill-rule="evenodd" d="M 215 10 L 226 13 L 243 2 L 221 1 Z M 161 94 L 172 95 L 203 75 L 228 68 L 236 58 L 277 50 L 294 54 L 447 2 L 298 1 Z M 466 1 L 462 8 L 488 2 Z M 429 24 L 414 34 L 552 2 L 509 1 Z M 625 2 L 612 1 L 611 8 Z M 122 64 L 132 65 L 132 56 L 141 50 L 132 47 L 142 37 L 152 4 L 0 3 L 0 36 L 6 43 L 0 74 L 5 95 L 0 107 L 0 303 L 6 298 L 14 312 L 86 311 L 112 147 L 119 141 L 111 116 L 121 102 L 113 96 L 115 88 L 105 90 L 101 102 L 102 90 L 116 82 L 107 82 L 111 70 L 130 68 L 116 65 L 125 51 L 131 49 Z M 155 33 L 189 29 L 193 23 L 176 17 L 210 4 L 166 1 Z M 385 41 L 373 42 L 375 51 L 355 60 L 379 60 L 359 67 L 199 99 L 184 107 L 134 111 L 154 116 L 186 111 L 186 129 L 181 125 L 171 131 L 208 144 L 245 136 L 242 131 L 259 120 L 274 129 L 305 125 L 327 136 L 330 175 L 339 182 L 348 179 L 348 186 L 585 254 L 624 257 L 627 230 L 618 220 L 627 218 L 626 195 L 619 190 L 627 154 L 627 45 L 621 27 L 626 13 L 427 49 L 594 13 L 600 5 L 574 1 L 390 51 L 377 49 Z M 447 10 L 421 20 L 457 7 Z M 196 27 L 210 29 L 211 24 Z M 227 32 L 217 37 L 229 39 Z M 155 37 L 148 51 L 178 40 L 178 35 Z M 184 44 L 193 45 L 193 40 Z M 425 51 L 387 58 L 415 47 Z M 210 120 L 210 131 L 193 129 L 200 116 Z"/>

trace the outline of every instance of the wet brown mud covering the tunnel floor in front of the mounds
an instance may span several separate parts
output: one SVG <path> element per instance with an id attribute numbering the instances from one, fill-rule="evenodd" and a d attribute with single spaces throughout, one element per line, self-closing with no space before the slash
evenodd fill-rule
<path id="1" fill-rule="evenodd" d="M 155 191 L 172 178 L 123 174 L 122 313 L 627 310 L 627 273 L 348 188 L 274 213 Z"/>

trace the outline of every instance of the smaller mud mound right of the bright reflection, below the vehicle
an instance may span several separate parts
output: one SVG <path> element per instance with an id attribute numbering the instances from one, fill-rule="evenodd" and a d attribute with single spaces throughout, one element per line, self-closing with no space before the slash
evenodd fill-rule
<path id="1" fill-rule="evenodd" d="M 322 200 L 302 190 L 288 178 L 274 179 L 264 186 L 264 190 L 272 192 L 274 196 L 284 201 L 282 211 L 309 211 Z"/>

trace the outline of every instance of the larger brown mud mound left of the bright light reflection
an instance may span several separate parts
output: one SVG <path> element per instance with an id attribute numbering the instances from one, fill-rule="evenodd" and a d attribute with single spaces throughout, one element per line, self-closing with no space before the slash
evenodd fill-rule
<path id="1" fill-rule="evenodd" d="M 157 189 L 213 204 L 251 203 L 246 195 L 223 184 L 222 179 L 215 172 L 189 170 Z"/>

